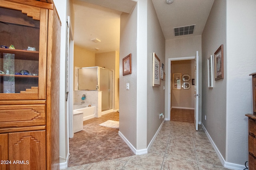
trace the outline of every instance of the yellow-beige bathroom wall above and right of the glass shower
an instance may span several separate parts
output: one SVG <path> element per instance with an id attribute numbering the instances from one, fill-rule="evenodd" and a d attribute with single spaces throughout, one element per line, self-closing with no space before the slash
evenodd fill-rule
<path id="1" fill-rule="evenodd" d="M 118 96 L 119 52 L 111 51 L 106 53 L 97 53 L 95 55 L 95 66 L 100 66 L 109 70 L 114 70 L 113 109 L 114 110 L 119 109 L 119 96 Z"/>

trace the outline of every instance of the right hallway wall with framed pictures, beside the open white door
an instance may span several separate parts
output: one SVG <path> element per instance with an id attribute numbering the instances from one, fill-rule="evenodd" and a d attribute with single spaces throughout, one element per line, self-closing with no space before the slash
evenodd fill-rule
<path id="1" fill-rule="evenodd" d="M 207 59 L 221 44 L 224 45 L 224 79 L 213 81 L 214 87 L 208 88 Z M 206 115 L 202 123 L 223 157 L 226 154 L 226 49 L 226 2 L 215 0 L 202 34 L 202 117 Z"/>

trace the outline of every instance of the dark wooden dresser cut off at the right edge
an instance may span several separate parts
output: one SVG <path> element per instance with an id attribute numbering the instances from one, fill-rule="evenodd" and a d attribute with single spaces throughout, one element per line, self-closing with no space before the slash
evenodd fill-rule
<path id="1" fill-rule="evenodd" d="M 250 76 L 252 76 L 253 114 L 246 114 L 248 117 L 248 162 L 249 169 L 256 170 L 256 73 Z"/>

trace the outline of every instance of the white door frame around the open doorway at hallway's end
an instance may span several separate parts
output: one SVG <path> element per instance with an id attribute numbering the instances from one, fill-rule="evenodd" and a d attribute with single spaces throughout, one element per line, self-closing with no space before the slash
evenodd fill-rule
<path id="1" fill-rule="evenodd" d="M 176 58 L 168 58 L 168 114 L 166 119 L 168 121 L 171 120 L 171 62 L 172 61 L 181 61 L 181 60 L 194 60 L 195 56 L 192 57 L 176 57 Z"/>

